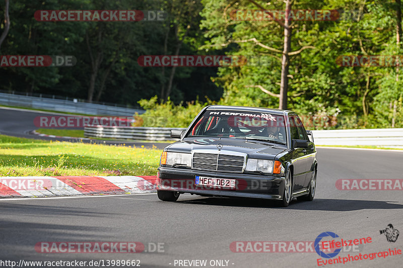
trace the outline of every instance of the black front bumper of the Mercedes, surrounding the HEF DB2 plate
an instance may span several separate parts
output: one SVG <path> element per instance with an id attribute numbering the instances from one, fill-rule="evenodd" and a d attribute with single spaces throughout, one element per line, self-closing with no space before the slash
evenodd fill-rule
<path id="1" fill-rule="evenodd" d="M 249 197 L 275 200 L 281 200 L 284 194 L 284 176 L 210 172 L 172 167 L 159 167 L 158 170 L 157 190 L 201 196 Z M 236 187 L 229 190 L 196 186 L 194 184 L 195 176 L 232 178 L 236 181 Z"/>

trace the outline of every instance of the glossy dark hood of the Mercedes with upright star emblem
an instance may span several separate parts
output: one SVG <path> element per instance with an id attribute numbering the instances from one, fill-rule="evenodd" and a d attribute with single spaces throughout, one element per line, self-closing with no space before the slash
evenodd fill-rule
<path id="1" fill-rule="evenodd" d="M 211 153 L 218 153 L 218 144 L 222 144 L 223 151 L 246 153 L 248 157 L 263 159 L 274 159 L 279 153 L 288 150 L 286 145 L 265 141 L 235 138 L 185 138 L 169 145 L 167 151 L 190 153 L 193 150 L 211 150 Z"/>

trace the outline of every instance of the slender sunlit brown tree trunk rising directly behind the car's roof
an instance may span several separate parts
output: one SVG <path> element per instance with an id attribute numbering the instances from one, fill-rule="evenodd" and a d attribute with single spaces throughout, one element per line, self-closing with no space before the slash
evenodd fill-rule
<path id="1" fill-rule="evenodd" d="M 288 92 L 288 73 L 289 73 L 289 55 L 291 51 L 291 21 L 288 14 L 290 13 L 292 3 L 286 0 L 286 19 L 284 21 L 284 48 L 281 60 L 281 81 L 280 81 L 280 103 L 279 109 L 287 109 L 287 92 Z"/>

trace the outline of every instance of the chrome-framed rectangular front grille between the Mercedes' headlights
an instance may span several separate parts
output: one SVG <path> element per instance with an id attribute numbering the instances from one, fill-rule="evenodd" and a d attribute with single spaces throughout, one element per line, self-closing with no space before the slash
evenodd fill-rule
<path id="1" fill-rule="evenodd" d="M 245 158 L 239 155 L 194 153 L 193 168 L 208 171 L 238 172 L 243 170 Z"/>

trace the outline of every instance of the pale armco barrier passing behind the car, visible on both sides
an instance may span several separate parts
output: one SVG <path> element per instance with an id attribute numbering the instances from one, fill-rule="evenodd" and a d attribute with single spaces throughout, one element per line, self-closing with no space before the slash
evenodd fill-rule
<path id="1" fill-rule="evenodd" d="M 85 127 L 85 137 L 121 138 L 137 140 L 174 140 L 171 129 L 157 127 Z M 374 145 L 403 147 L 403 129 L 352 129 L 352 130 L 313 130 L 316 145 Z"/>

